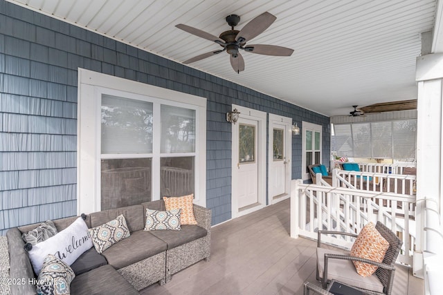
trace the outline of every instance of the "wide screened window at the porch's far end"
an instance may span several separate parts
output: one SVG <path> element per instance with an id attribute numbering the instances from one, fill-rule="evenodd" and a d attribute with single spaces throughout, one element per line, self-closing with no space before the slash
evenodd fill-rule
<path id="1" fill-rule="evenodd" d="M 334 124 L 332 151 L 356 158 L 414 160 L 417 120 Z"/>

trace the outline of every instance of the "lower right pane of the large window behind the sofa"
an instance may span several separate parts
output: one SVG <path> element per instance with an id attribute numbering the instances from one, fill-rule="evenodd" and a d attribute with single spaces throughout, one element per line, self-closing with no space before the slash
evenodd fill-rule
<path id="1" fill-rule="evenodd" d="M 194 193 L 194 157 L 161 158 L 161 196 L 186 196 Z"/>

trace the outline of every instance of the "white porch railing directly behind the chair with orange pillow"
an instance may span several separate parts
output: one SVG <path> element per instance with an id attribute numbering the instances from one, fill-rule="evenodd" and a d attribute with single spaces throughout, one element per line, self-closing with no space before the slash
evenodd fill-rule
<path id="1" fill-rule="evenodd" d="M 318 229 L 358 234 L 368 222 L 381 221 L 403 240 L 397 261 L 412 265 L 415 220 L 409 208 L 414 202 L 414 196 L 398 193 L 326 187 L 294 180 L 291 193 L 291 236 L 316 239 Z M 325 242 L 350 249 L 353 240 L 349 236 L 328 236 Z"/>

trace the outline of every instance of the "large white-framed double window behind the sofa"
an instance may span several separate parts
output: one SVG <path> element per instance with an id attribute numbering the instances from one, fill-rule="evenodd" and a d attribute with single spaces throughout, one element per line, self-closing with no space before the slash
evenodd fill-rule
<path id="1" fill-rule="evenodd" d="M 204 206 L 206 99 L 80 72 L 78 212 L 190 193 Z"/>

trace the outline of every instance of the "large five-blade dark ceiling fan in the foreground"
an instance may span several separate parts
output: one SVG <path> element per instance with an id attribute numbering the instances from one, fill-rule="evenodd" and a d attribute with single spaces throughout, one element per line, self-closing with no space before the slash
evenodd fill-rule
<path id="1" fill-rule="evenodd" d="M 209 53 L 192 57 L 191 59 L 183 61 L 183 64 L 190 64 L 192 62 L 206 59 L 207 57 L 218 55 L 219 53 L 226 51 L 226 53 L 230 55 L 230 65 L 233 67 L 235 72 L 240 73 L 242 70 L 244 70 L 244 59 L 239 53 L 240 49 L 249 53 L 256 53 L 258 55 L 290 56 L 293 53 L 293 49 L 291 48 L 265 44 L 246 46 L 246 42 L 251 41 L 251 39 L 264 32 L 266 28 L 271 26 L 275 19 L 277 19 L 277 17 L 271 15 L 271 13 L 264 12 L 262 15 L 259 15 L 246 23 L 242 30 L 234 30 L 234 27 L 237 26 L 240 21 L 240 17 L 238 15 L 228 15 L 226 17 L 226 22 L 231 29 L 222 32 L 219 37 L 208 32 L 204 32 L 203 30 L 179 23 L 176 25 L 177 28 L 184 30 L 185 32 L 189 32 L 192 35 L 213 41 L 223 47 L 221 50 L 213 50 Z"/>

